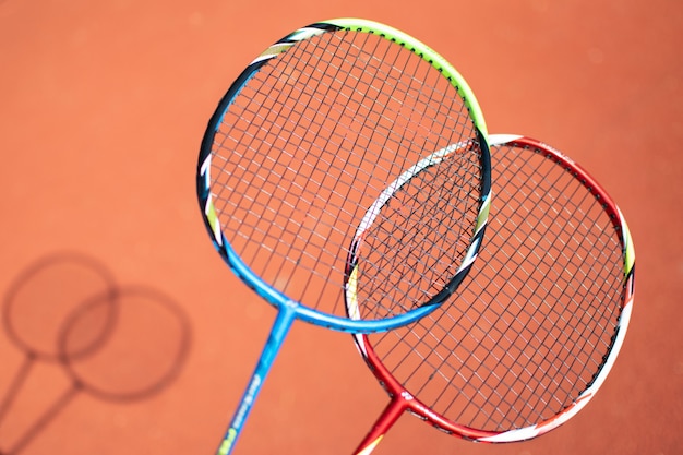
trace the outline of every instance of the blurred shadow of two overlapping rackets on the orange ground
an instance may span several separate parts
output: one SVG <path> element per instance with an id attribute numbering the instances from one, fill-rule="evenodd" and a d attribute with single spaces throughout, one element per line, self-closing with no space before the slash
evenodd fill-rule
<path id="1" fill-rule="evenodd" d="M 59 318 L 51 307 L 59 307 Z M 177 302 L 147 286 L 116 284 L 101 263 L 81 253 L 28 266 L 2 310 L 4 332 L 23 359 L 0 396 L 0 455 L 22 453 L 83 393 L 119 404 L 161 393 L 190 351 L 191 325 Z M 29 386 L 56 391 L 36 406 Z M 26 414 L 27 421 L 13 419 Z"/>

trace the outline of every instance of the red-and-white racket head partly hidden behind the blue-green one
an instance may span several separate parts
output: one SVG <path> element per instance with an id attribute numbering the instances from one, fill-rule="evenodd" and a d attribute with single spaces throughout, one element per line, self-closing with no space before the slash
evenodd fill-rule
<path id="1" fill-rule="evenodd" d="M 558 428 L 602 385 L 631 319 L 635 252 L 614 201 L 568 156 L 517 135 L 489 143 L 495 196 L 465 285 L 415 324 L 354 338 L 407 410 L 502 443 Z"/>

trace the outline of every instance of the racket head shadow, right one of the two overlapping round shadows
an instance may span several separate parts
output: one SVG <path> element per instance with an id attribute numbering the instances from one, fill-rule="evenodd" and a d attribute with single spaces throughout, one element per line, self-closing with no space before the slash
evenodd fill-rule
<path id="1" fill-rule="evenodd" d="M 115 301 L 113 333 L 87 355 L 71 355 Z M 191 340 L 187 314 L 168 296 L 144 286 L 94 296 L 72 312 L 59 334 L 60 362 L 85 392 L 108 400 L 142 399 L 180 372 Z"/>

